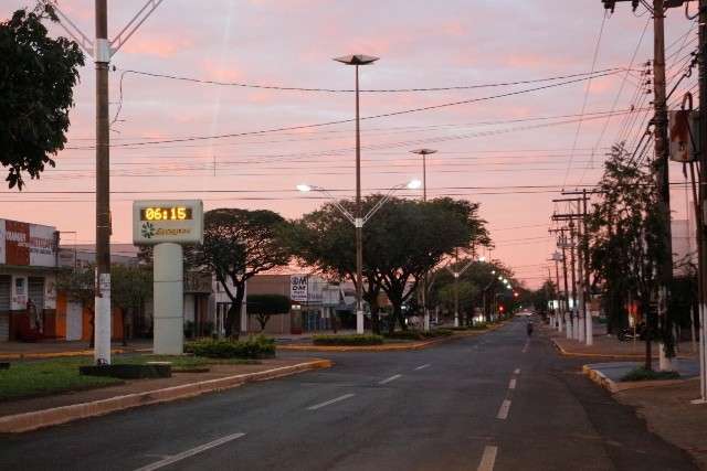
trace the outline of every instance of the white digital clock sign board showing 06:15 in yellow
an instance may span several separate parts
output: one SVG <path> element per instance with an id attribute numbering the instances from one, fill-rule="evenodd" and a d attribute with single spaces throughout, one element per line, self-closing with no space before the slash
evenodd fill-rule
<path id="1" fill-rule="evenodd" d="M 203 203 L 201 200 L 158 200 L 133 203 L 133 243 L 201 244 Z"/>

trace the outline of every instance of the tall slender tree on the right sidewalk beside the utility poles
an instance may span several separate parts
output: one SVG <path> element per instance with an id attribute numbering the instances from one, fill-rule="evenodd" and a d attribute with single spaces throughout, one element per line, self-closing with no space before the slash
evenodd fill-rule
<path id="1" fill-rule="evenodd" d="M 661 333 L 668 356 L 674 355 L 669 315 L 658 331 L 655 293 L 657 267 L 665 250 L 665 217 L 650 167 L 633 162 L 623 144 L 614 146 L 599 182 L 600 197 L 588 218 L 589 268 L 604 292 L 611 329 L 625 324 L 626 307 L 635 302 L 645 320 L 645 367 L 652 368 L 651 342 Z"/>

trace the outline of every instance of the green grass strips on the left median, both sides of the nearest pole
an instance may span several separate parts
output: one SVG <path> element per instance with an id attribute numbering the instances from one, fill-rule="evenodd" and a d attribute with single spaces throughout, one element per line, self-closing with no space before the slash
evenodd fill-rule
<path id="1" fill-rule="evenodd" d="M 114 364 L 145 364 L 147 362 L 170 362 L 175 373 L 204 370 L 214 364 L 260 363 L 254 360 L 215 360 L 189 355 L 116 355 L 113 358 Z M 123 383 L 123 379 L 118 378 L 78 374 L 78 366 L 91 364 L 93 364 L 93 360 L 85 356 L 11 362 L 9 370 L 0 370 L 0 402 L 93 389 Z"/>

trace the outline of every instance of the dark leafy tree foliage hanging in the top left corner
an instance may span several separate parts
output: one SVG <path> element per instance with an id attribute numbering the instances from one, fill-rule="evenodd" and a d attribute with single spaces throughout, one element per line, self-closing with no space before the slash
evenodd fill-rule
<path id="1" fill-rule="evenodd" d="M 64 148 L 73 88 L 84 55 L 65 38 L 48 36 L 42 21 L 57 21 L 48 2 L 18 10 L 0 23 L 0 163 L 9 188 L 24 185 L 23 172 L 39 179 L 50 156 Z"/>

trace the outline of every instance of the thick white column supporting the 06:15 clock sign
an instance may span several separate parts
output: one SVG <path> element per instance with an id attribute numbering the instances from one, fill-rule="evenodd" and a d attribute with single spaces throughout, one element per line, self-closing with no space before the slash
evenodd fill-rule
<path id="1" fill-rule="evenodd" d="M 155 246 L 154 352 L 181 355 L 184 347 L 184 281 L 181 245 Z"/>

